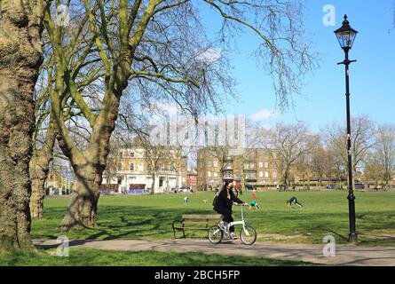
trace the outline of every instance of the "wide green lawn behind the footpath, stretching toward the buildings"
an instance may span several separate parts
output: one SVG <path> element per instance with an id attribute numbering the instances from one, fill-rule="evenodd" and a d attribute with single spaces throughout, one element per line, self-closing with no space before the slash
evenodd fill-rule
<path id="1" fill-rule="evenodd" d="M 188 194 L 189 202 L 184 204 Z M 286 200 L 295 195 L 303 209 L 288 209 Z M 395 193 L 357 192 L 357 232 L 359 244 L 395 246 Z M 56 239 L 66 235 L 81 240 L 161 240 L 173 238 L 171 223 L 183 214 L 215 214 L 214 193 L 177 193 L 133 196 L 102 196 L 99 199 L 98 227 L 60 232 L 58 226 L 67 209 L 68 198 L 45 199 L 44 219 L 32 224 L 33 239 Z M 208 203 L 203 203 L 208 199 Z M 250 201 L 251 193 L 241 200 Z M 336 243 L 346 243 L 349 232 L 348 201 L 345 191 L 259 192 L 261 209 L 247 209 L 246 220 L 257 229 L 257 241 L 322 243 L 332 235 Z M 240 208 L 233 207 L 240 218 Z M 203 238 L 205 233 L 187 232 L 187 237 Z M 181 236 L 178 234 L 178 236 Z"/>

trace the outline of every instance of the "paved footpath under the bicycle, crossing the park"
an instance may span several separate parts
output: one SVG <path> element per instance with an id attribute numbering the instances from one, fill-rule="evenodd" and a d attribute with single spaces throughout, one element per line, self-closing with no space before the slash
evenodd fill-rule
<path id="1" fill-rule="evenodd" d="M 36 246 L 56 248 L 56 240 L 36 240 Z M 241 244 L 241 241 L 225 241 L 217 245 L 208 240 L 111 240 L 83 241 L 74 240 L 69 246 L 75 248 L 99 248 L 123 251 L 157 250 L 164 252 L 200 252 L 229 256 L 260 256 L 284 260 L 312 262 L 315 264 L 333 265 L 380 265 L 395 266 L 395 247 L 362 247 L 352 245 L 336 245 L 336 256 L 323 256 L 322 245 L 286 244 L 273 242 L 257 242 L 252 246 Z"/>

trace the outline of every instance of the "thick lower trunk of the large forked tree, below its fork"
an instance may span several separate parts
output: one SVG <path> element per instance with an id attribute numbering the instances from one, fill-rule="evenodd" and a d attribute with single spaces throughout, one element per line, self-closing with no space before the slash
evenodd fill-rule
<path id="1" fill-rule="evenodd" d="M 91 164 L 88 160 L 86 164 Z M 60 225 L 62 230 L 79 227 L 96 227 L 99 189 L 104 167 L 72 164 L 75 170 L 75 184 L 66 216 Z"/>

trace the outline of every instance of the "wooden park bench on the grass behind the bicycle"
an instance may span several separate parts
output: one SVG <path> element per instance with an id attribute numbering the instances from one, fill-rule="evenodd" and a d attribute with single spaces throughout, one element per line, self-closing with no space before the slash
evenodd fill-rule
<path id="1" fill-rule="evenodd" d="M 182 231 L 186 238 L 186 230 L 208 231 L 212 225 L 217 225 L 221 221 L 221 215 L 183 215 L 181 220 L 176 220 L 171 225 L 173 228 L 174 239 L 176 239 L 176 231 Z"/>

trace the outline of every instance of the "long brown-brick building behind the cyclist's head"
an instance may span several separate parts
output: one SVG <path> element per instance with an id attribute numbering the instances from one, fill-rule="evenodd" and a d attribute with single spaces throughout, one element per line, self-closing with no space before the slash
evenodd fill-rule
<path id="1" fill-rule="evenodd" d="M 263 148 L 204 147 L 198 151 L 198 188 L 213 190 L 223 180 L 243 188 L 280 184 L 280 154 Z"/>

